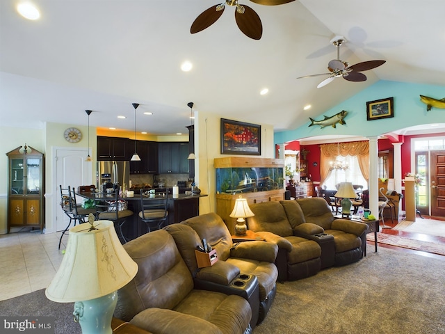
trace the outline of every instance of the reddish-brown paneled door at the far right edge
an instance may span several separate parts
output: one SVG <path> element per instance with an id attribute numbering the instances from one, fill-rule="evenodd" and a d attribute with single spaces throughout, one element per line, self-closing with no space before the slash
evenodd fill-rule
<path id="1" fill-rule="evenodd" d="M 431 151 L 431 215 L 445 216 L 445 151 Z"/>

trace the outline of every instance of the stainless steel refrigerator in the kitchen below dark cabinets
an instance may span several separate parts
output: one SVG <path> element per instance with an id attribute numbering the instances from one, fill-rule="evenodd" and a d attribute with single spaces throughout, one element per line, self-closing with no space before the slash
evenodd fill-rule
<path id="1" fill-rule="evenodd" d="M 97 188 L 106 183 L 129 186 L 130 161 L 97 161 Z"/>

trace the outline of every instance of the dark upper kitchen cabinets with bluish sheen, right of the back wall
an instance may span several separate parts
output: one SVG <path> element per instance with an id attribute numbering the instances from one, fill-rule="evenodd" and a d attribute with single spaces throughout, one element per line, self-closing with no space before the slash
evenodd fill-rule
<path id="1" fill-rule="evenodd" d="M 188 143 L 159 143 L 159 173 L 188 173 Z"/>

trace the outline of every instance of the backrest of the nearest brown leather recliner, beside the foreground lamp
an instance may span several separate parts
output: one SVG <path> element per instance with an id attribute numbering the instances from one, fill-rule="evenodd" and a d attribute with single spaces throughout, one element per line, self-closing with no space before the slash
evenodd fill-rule
<path id="1" fill-rule="evenodd" d="M 167 231 L 143 234 L 123 246 L 139 269 L 118 290 L 118 319 L 129 321 L 147 308 L 175 308 L 193 289 L 191 273 Z"/>

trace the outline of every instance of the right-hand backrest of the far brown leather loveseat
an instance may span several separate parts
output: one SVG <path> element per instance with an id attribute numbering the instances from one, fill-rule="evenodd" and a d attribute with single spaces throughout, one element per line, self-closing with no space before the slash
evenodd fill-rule
<path id="1" fill-rule="evenodd" d="M 331 228 L 334 215 L 324 198 L 299 198 L 296 200 L 305 215 L 306 223 L 314 223 L 325 230 Z"/>

